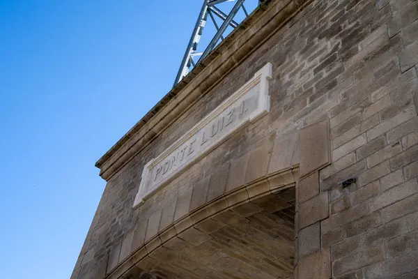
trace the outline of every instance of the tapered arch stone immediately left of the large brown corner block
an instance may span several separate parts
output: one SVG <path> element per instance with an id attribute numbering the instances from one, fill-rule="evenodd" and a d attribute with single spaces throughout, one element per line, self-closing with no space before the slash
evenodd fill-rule
<path id="1" fill-rule="evenodd" d="M 268 173 L 277 172 L 291 167 L 293 151 L 297 144 L 297 133 L 279 137 L 274 142 L 272 158 L 268 167 Z"/>

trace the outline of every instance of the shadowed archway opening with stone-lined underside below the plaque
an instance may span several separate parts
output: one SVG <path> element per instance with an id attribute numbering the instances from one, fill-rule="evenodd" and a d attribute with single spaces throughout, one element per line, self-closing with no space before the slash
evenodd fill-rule
<path id="1" fill-rule="evenodd" d="M 150 278 L 290 279 L 294 258 L 292 186 L 202 220 L 136 266 Z"/>

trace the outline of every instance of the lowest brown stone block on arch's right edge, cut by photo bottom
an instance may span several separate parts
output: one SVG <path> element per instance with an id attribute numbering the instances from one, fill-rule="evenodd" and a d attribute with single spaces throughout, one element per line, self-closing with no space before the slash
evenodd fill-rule
<path id="1" fill-rule="evenodd" d="M 300 259 L 297 264 L 297 273 L 300 279 L 330 279 L 330 250 L 322 249 Z"/>

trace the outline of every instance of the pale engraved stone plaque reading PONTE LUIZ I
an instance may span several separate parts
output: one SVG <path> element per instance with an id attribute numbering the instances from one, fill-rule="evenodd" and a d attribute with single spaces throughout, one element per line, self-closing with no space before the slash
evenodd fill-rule
<path id="1" fill-rule="evenodd" d="M 134 206 L 144 202 L 189 165 L 226 140 L 235 130 L 270 110 L 268 81 L 272 65 L 267 63 L 246 84 L 224 100 L 183 137 L 171 144 L 142 172 L 141 185 Z"/>

